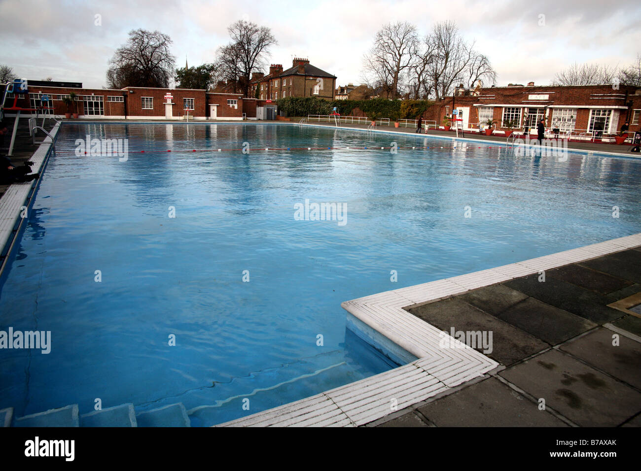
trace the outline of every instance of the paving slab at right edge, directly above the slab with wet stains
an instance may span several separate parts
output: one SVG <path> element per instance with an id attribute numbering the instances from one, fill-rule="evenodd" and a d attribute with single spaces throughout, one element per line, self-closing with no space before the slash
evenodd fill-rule
<path id="1" fill-rule="evenodd" d="M 617 346 L 612 345 L 613 335 L 619 339 Z M 641 389 L 641 343 L 602 327 L 559 348 Z"/>

